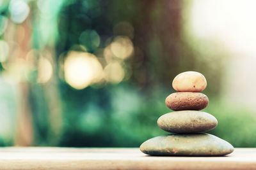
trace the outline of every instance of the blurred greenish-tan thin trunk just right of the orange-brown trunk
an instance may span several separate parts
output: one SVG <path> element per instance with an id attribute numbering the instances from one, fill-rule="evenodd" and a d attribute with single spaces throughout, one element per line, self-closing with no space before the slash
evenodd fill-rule
<path id="1" fill-rule="evenodd" d="M 48 8 L 50 8 L 51 5 L 56 6 L 56 4 L 61 6 L 60 2 L 61 1 L 56 3 L 52 1 L 51 3 L 48 3 Z M 42 13 L 40 13 L 40 11 L 38 10 L 38 6 L 36 3 L 36 1 L 31 2 L 31 8 L 33 8 L 33 11 L 31 12 L 31 23 L 35 24 L 33 25 L 33 27 L 38 26 L 38 24 L 44 25 L 44 20 L 42 20 Z M 55 17 L 55 12 L 56 11 L 52 12 L 51 17 Z M 47 118 L 47 127 L 41 129 L 41 131 L 45 131 L 46 133 L 45 135 L 41 136 L 41 139 L 38 139 L 41 141 L 36 141 L 36 145 L 40 145 L 40 143 L 47 143 L 47 145 L 49 146 L 57 146 L 58 143 L 60 143 L 60 139 L 62 138 L 63 133 L 63 115 L 61 108 L 60 89 L 58 87 L 58 63 L 56 63 L 58 62 L 58 59 L 56 59 L 56 52 L 54 48 L 55 46 L 54 44 L 51 44 L 51 42 L 53 41 L 52 37 L 48 39 L 48 43 L 42 43 L 42 39 L 44 39 L 45 41 L 45 38 L 43 37 L 44 34 L 42 33 L 42 31 L 44 30 L 40 29 L 34 32 L 31 47 L 39 50 L 40 56 L 38 56 L 38 59 L 39 57 L 44 57 L 51 62 L 52 76 L 50 80 L 45 83 L 35 82 L 35 85 L 38 88 L 42 89 L 42 94 L 34 94 L 34 96 L 37 99 L 39 98 L 39 95 L 44 96 L 44 114 L 45 118 Z M 51 31 L 54 32 L 54 30 Z M 39 112 L 38 110 L 40 110 L 40 108 L 36 108 L 35 111 Z M 38 124 L 42 124 L 42 120 L 38 118 L 34 118 L 34 121 Z"/>

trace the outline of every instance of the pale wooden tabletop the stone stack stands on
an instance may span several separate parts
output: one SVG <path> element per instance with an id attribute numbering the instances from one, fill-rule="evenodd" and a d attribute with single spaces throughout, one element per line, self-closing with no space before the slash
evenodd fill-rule
<path id="1" fill-rule="evenodd" d="M 225 157 L 152 157 L 138 148 L 0 148 L 0 169 L 256 169 L 256 148 Z"/>

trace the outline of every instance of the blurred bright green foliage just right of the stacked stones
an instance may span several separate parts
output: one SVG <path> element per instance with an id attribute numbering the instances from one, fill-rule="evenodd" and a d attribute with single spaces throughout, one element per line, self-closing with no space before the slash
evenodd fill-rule
<path id="1" fill-rule="evenodd" d="M 221 99 L 213 99 L 205 111 L 218 120 L 212 134 L 229 141 L 234 147 L 255 147 L 256 134 L 252 132 L 255 129 L 255 111 Z"/>

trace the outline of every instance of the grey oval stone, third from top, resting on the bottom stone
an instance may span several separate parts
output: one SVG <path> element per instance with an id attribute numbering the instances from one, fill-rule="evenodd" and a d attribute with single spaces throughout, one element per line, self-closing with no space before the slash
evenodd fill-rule
<path id="1" fill-rule="evenodd" d="M 214 129 L 218 120 L 204 111 L 183 110 L 162 115 L 158 118 L 157 125 L 167 132 L 193 133 Z"/>

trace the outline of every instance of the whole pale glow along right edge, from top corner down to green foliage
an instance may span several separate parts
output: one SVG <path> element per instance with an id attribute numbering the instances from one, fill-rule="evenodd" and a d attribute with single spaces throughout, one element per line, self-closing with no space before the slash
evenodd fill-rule
<path id="1" fill-rule="evenodd" d="M 230 53 L 223 75 L 223 98 L 253 107 L 256 106 L 255 6 L 253 0 L 196 0 L 189 15 L 196 37 L 205 42 L 215 41 L 222 47 L 219 50 Z"/>

